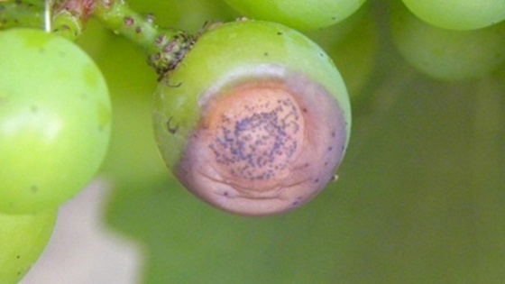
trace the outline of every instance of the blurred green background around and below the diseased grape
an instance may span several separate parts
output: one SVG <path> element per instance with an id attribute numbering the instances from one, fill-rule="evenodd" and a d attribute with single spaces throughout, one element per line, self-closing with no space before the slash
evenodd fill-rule
<path id="1" fill-rule="evenodd" d="M 236 16 L 217 0 L 131 5 L 191 32 Z M 152 137 L 156 75 L 141 50 L 91 24 L 80 43 L 115 110 L 105 219 L 142 244 L 143 282 L 503 283 L 505 68 L 464 82 L 421 75 L 395 49 L 384 2 L 335 29 L 308 35 L 334 56 L 353 98 L 339 179 L 295 212 L 248 218 L 170 176 Z"/>

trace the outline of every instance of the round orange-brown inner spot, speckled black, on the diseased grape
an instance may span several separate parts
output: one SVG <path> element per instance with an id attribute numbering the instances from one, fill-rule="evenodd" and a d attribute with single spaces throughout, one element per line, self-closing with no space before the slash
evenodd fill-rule
<path id="1" fill-rule="evenodd" d="M 297 102 L 275 84 L 246 85 L 211 103 L 204 121 L 207 147 L 225 179 L 268 190 L 289 175 L 304 140 Z"/>

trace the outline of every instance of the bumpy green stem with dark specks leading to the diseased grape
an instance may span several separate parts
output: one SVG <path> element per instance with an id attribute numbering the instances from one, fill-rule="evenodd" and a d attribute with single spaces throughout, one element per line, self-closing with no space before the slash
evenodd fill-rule
<path id="1" fill-rule="evenodd" d="M 77 38 L 90 16 L 140 46 L 160 77 L 175 69 L 194 43 L 194 37 L 187 32 L 161 29 L 152 14 L 142 16 L 122 0 L 61 1 L 55 6 L 54 32 Z"/>

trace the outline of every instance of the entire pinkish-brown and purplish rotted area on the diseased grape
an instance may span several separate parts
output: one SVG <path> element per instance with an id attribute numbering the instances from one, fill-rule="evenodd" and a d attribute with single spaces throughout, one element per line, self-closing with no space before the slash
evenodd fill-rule
<path id="1" fill-rule="evenodd" d="M 290 210 L 315 197 L 341 161 L 344 117 L 306 78 L 243 82 L 200 103 L 176 174 L 214 206 L 242 215 Z"/>

